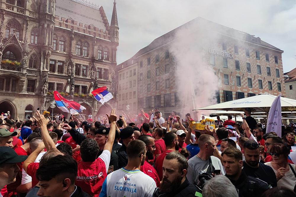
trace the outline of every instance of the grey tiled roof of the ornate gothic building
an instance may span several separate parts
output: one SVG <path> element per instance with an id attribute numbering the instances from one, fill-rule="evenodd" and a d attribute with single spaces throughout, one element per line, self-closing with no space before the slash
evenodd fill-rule
<path id="1" fill-rule="evenodd" d="M 87 1 L 57 0 L 55 14 L 59 17 L 59 20 L 61 18 L 70 19 L 78 22 L 78 24 L 93 24 L 96 28 L 107 30 L 99 9 L 98 6 L 87 3 Z"/>

